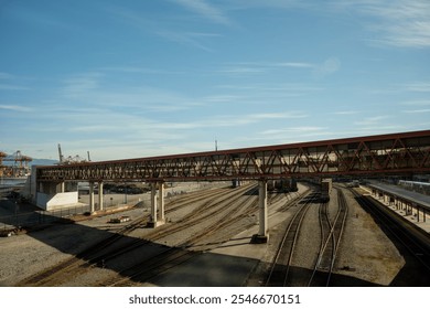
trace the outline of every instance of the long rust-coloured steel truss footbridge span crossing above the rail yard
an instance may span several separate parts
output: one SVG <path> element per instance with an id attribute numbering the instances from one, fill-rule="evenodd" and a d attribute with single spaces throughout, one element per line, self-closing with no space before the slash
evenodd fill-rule
<path id="1" fill-rule="evenodd" d="M 194 181 L 430 172 L 430 130 L 37 167 L 37 181 Z"/>

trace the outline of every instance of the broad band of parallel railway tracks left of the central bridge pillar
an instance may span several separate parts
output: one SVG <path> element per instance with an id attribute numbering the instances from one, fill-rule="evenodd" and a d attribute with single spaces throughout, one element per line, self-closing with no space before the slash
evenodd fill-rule
<path id="1" fill-rule="evenodd" d="M 19 285 L 67 285 L 67 278 L 85 276 L 95 267 L 109 268 L 126 254 L 139 253 L 146 251 L 148 246 L 157 245 L 158 248 L 153 255 L 142 254 L 143 258 L 121 267 L 116 275 L 106 280 L 99 280 L 95 285 L 131 285 L 133 280 L 146 280 L 193 258 L 205 249 L 216 247 L 237 233 L 234 228 L 226 228 L 227 226 L 240 221 L 243 223 L 238 228 L 254 225 L 255 213 L 258 210 L 258 194 L 255 184 L 233 190 L 214 189 L 172 200 L 166 204 L 166 214 L 173 215 L 174 212 L 190 204 L 198 206 L 179 220 L 173 220 L 173 224 L 165 224 L 154 231 L 149 231 L 143 237 L 130 236 L 136 230 L 144 226 L 148 221 L 148 215 L 144 215 L 76 257 L 31 276 Z M 227 230 L 229 233 L 225 233 Z M 182 235 L 181 241 L 171 239 L 175 234 Z"/>

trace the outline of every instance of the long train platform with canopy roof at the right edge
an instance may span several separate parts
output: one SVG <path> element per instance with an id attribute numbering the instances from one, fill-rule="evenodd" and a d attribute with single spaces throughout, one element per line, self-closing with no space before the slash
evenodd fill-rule
<path id="1" fill-rule="evenodd" d="M 430 233 L 430 196 L 424 195 L 418 192 L 409 191 L 404 188 L 394 184 L 380 183 L 380 182 L 372 182 L 368 185 L 361 185 L 361 189 L 368 192 L 368 194 L 380 202 L 381 204 L 389 207 L 391 211 L 401 215 L 404 219 L 413 223 L 419 228 Z M 394 196 L 395 199 L 399 199 L 400 201 L 407 201 L 410 203 L 411 210 L 399 207 L 396 205 L 396 202 L 390 201 L 389 199 L 385 199 L 384 196 L 379 196 L 378 194 L 372 194 L 373 190 L 377 190 L 379 192 L 384 192 L 389 196 Z M 418 213 L 419 210 L 419 213 Z"/>

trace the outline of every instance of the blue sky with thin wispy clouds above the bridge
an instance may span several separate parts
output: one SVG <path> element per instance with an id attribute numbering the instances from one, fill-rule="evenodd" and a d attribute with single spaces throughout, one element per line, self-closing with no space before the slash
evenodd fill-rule
<path id="1" fill-rule="evenodd" d="M 0 150 L 149 157 L 430 128 L 428 0 L 0 0 Z"/>

